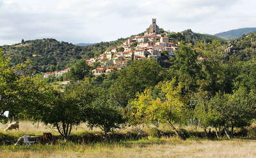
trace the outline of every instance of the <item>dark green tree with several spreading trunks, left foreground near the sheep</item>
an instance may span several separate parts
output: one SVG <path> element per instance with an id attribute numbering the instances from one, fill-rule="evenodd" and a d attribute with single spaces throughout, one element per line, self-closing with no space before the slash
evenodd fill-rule
<path id="1" fill-rule="evenodd" d="M 90 113 L 89 105 L 96 92 L 88 85 L 70 85 L 65 92 L 58 92 L 49 85 L 41 87 L 37 104 L 24 111 L 33 120 L 51 124 L 61 137 L 69 139 L 72 126 L 85 122 Z"/>

